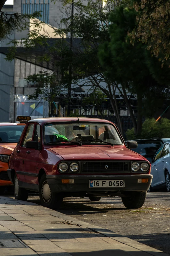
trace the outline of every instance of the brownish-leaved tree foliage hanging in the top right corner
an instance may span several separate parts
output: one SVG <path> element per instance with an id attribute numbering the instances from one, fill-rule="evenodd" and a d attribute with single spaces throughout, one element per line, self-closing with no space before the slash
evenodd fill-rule
<path id="1" fill-rule="evenodd" d="M 138 25 L 129 33 L 131 42 L 136 38 L 147 44 L 147 49 L 162 63 L 170 65 L 170 1 L 136 0 Z"/>

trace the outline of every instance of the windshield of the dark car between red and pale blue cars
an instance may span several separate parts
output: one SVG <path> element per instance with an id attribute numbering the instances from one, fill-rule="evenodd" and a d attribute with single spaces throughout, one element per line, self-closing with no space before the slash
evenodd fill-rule
<path id="1" fill-rule="evenodd" d="M 161 141 L 145 141 L 138 143 L 137 148 L 131 149 L 142 156 L 154 156 L 163 143 Z"/>

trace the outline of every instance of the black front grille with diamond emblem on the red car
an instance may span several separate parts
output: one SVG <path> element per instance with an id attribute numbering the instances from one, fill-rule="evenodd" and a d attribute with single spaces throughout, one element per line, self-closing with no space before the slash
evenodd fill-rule
<path id="1" fill-rule="evenodd" d="M 81 163 L 81 172 L 130 172 L 129 161 L 87 161 Z"/>

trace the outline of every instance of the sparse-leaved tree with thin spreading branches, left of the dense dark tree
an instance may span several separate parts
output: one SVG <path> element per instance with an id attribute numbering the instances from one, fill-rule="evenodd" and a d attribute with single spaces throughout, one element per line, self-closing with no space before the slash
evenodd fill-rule
<path id="1" fill-rule="evenodd" d="M 42 22 L 36 21 L 36 30 L 29 31 L 27 38 L 23 40 L 25 50 L 41 48 L 44 51 L 44 55 L 40 57 L 41 61 L 49 61 L 54 66 L 54 71 L 51 74 L 41 74 L 41 76 L 36 74 L 28 77 L 28 81 L 40 82 L 42 85 L 43 76 L 45 80 L 49 79 L 51 86 L 50 100 L 61 89 L 68 90 L 70 83 L 72 88 L 79 87 L 80 80 L 84 81 L 81 86 L 93 86 L 94 89 L 100 89 L 109 98 L 116 115 L 117 125 L 122 132 L 120 109 L 115 97 L 118 83 L 108 80 L 98 58 L 99 45 L 109 40 L 108 19 L 110 11 L 114 8 L 115 1 L 113 0 L 108 0 L 104 8 L 101 0 L 88 0 L 85 5 L 81 0 L 78 0 L 74 3 L 73 17 L 66 10 L 67 17 L 61 21 L 64 28 L 54 28 L 56 35 L 60 36 L 61 39 L 51 41 L 48 36 L 40 35 L 39 30 Z M 73 38 L 71 47 L 70 34 Z M 17 45 L 17 42 L 13 41 L 13 43 L 14 46 Z M 11 60 L 14 57 L 15 49 L 11 48 L 7 59 Z M 61 74 L 61 76 L 57 77 L 56 74 Z M 103 86 L 103 83 L 105 83 L 105 86 Z M 41 88 L 38 88 L 31 97 L 43 94 Z M 69 94 L 68 101 L 70 102 Z"/>

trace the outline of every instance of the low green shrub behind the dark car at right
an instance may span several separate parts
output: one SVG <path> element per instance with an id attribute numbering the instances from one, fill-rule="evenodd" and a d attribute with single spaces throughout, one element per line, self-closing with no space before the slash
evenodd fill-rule
<path id="1" fill-rule="evenodd" d="M 170 120 L 167 118 L 161 118 L 157 121 L 154 118 L 147 118 L 142 124 L 141 135 L 136 136 L 134 134 L 134 128 L 128 129 L 126 132 L 127 140 L 134 139 L 149 139 L 153 137 L 170 138 Z"/>

